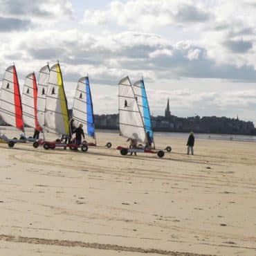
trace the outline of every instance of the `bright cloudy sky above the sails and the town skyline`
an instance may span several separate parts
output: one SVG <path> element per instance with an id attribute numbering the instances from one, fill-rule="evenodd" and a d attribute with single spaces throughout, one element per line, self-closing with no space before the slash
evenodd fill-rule
<path id="1" fill-rule="evenodd" d="M 0 76 L 60 61 L 68 105 L 89 75 L 97 114 L 118 113 L 118 82 L 143 77 L 152 114 L 256 125 L 255 0 L 0 0 Z"/>

